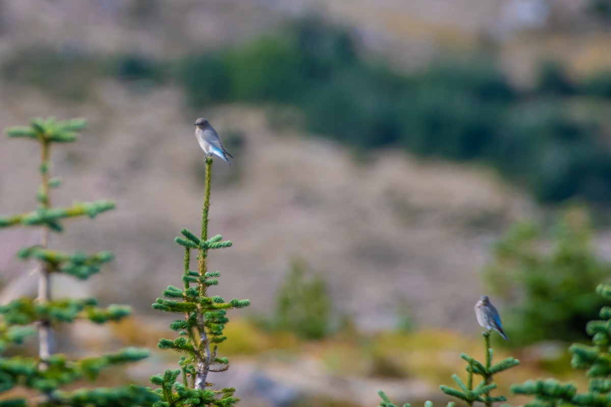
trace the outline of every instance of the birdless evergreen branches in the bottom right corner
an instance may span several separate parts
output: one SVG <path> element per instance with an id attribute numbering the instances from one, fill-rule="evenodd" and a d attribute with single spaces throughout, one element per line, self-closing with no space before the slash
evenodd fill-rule
<path id="1" fill-rule="evenodd" d="M 611 285 L 600 284 L 596 293 L 611 300 Z M 588 391 L 578 393 L 573 383 L 560 383 L 555 379 L 529 380 L 511 386 L 515 394 L 528 394 L 535 397 L 525 407 L 555 406 L 588 406 L 608 407 L 611 405 L 611 307 L 601 308 L 603 320 L 588 322 L 587 333 L 592 336 L 593 346 L 573 344 L 569 348 L 573 359 L 573 369 L 588 369 L 585 373 L 590 378 Z"/>

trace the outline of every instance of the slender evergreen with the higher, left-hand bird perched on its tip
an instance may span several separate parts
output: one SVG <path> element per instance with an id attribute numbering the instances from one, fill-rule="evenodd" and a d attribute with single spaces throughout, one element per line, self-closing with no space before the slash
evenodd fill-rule
<path id="1" fill-rule="evenodd" d="M 161 401 L 155 407 L 183 406 L 232 406 L 238 399 L 233 397 L 235 389 L 210 390 L 208 373 L 222 372 L 229 368 L 227 358 L 218 355 L 218 344 L 225 340 L 223 330 L 229 322 L 227 309 L 243 308 L 249 300 L 233 299 L 225 302 L 215 295 L 208 296 L 208 287 L 216 286 L 219 272 L 208 272 L 208 250 L 230 247 L 232 242 L 222 240 L 221 235 L 208 239 L 208 211 L 210 210 L 212 159 L 206 159 L 206 176 L 202 208 L 202 232 L 197 237 L 188 229 L 181 229 L 183 236 L 175 242 L 185 248 L 183 262 L 183 287 L 169 286 L 163 291 L 165 298 L 157 298 L 154 309 L 183 314 L 183 319 L 170 323 L 170 329 L 178 332 L 177 339 L 160 339 L 159 348 L 173 349 L 180 356 L 180 369 L 166 370 L 151 377 L 151 382 L 160 386 L 156 392 Z M 191 250 L 196 250 L 197 270 L 191 270 Z M 179 378 L 180 377 L 180 378 Z"/>

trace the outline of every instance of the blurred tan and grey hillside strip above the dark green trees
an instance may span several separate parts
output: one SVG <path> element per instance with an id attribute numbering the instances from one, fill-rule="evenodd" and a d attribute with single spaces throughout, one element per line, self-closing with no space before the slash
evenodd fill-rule
<path id="1" fill-rule="evenodd" d="M 541 59 L 579 73 L 606 68 L 605 0 L 3 0 L 0 51 L 32 45 L 106 56 L 171 57 L 243 43 L 295 17 L 324 15 L 359 32 L 364 46 L 402 67 L 439 52 L 499 46 L 512 76 L 528 79 Z"/>

